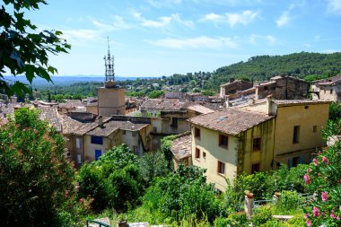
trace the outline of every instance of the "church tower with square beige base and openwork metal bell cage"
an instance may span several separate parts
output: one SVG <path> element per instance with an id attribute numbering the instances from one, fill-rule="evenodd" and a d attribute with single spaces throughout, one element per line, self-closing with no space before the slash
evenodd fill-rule
<path id="1" fill-rule="evenodd" d="M 108 56 L 104 56 L 104 87 L 97 88 L 98 113 L 101 116 L 125 115 L 125 90 L 115 84 L 114 56 L 110 56 L 108 38 Z"/>

